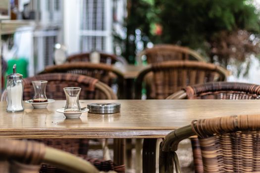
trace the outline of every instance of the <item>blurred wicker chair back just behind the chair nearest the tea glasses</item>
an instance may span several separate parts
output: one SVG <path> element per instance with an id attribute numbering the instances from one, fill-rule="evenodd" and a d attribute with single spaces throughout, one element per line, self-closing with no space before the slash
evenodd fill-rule
<path id="1" fill-rule="evenodd" d="M 89 62 L 65 63 L 62 65 L 48 66 L 40 74 L 46 73 L 72 73 L 90 76 L 110 87 L 114 84 L 118 85 L 117 93 L 119 96 L 123 95 L 124 77 L 122 73 L 107 64 L 93 64 Z"/>

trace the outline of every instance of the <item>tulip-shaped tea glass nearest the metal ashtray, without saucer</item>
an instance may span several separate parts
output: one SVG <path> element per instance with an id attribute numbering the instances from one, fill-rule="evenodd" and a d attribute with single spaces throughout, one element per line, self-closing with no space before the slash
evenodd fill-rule
<path id="1" fill-rule="evenodd" d="M 79 104 L 80 87 L 64 87 L 66 95 L 66 106 L 64 112 L 80 112 L 81 107 Z"/>

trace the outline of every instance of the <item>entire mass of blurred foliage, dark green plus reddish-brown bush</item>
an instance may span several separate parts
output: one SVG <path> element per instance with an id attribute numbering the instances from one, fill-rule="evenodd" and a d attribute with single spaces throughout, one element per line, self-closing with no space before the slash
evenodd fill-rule
<path id="1" fill-rule="evenodd" d="M 123 56 L 134 62 L 137 52 L 135 30 L 142 31 L 144 46 L 151 41 L 200 49 L 211 61 L 215 56 L 227 65 L 235 56 L 257 54 L 260 12 L 253 0 L 128 0 L 127 37 L 121 39 Z M 161 31 L 160 31 L 161 30 Z M 240 34 L 242 33 L 242 34 Z M 120 38 L 117 38 L 120 40 Z M 242 43 L 246 40 L 245 43 Z M 258 43 L 253 43 L 258 41 Z M 236 48 L 234 53 L 233 49 Z M 215 58 L 216 59 L 216 58 Z"/>

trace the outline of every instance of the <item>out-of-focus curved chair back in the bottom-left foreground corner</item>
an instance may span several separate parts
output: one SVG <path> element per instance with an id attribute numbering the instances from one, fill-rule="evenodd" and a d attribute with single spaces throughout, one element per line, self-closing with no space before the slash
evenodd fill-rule
<path id="1" fill-rule="evenodd" d="M 0 138 L 1 173 L 39 173 L 43 162 L 71 173 L 99 173 L 89 162 L 42 143 Z"/>

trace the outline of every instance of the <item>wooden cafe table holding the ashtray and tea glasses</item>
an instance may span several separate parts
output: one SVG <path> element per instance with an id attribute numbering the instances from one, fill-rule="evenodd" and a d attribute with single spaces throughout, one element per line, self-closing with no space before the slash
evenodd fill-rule
<path id="1" fill-rule="evenodd" d="M 46 109 L 24 103 L 24 112 L 7 113 L 0 102 L 0 136 L 8 138 L 144 138 L 143 173 L 155 173 L 156 139 L 189 125 L 192 120 L 242 114 L 260 114 L 260 100 L 80 100 L 118 102 L 120 113 L 83 113 L 66 119 L 55 110 L 65 106 L 56 100 Z"/>

